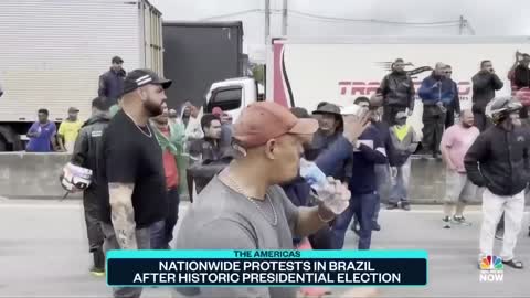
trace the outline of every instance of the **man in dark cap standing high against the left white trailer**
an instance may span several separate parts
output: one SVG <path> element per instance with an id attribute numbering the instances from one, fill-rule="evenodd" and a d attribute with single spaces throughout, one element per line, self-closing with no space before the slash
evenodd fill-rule
<path id="1" fill-rule="evenodd" d="M 124 60 L 119 56 L 114 56 L 113 65 L 108 72 L 99 76 L 98 95 L 108 99 L 108 106 L 116 105 L 118 98 L 124 93 L 124 78 L 126 75 L 123 68 Z"/>

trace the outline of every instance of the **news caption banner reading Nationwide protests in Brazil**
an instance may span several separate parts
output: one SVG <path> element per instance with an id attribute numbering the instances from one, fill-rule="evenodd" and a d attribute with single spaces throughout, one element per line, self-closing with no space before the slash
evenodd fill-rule
<path id="1" fill-rule="evenodd" d="M 425 251 L 110 251 L 113 287 L 425 286 Z"/>

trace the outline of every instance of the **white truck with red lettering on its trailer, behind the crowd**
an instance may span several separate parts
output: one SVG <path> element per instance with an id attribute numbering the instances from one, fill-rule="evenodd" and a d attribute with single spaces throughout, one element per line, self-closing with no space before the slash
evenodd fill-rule
<path id="1" fill-rule="evenodd" d="M 458 84 L 462 108 L 471 107 L 471 77 L 480 70 L 480 61 L 490 60 L 505 86 L 498 95 L 511 93 L 508 72 L 516 52 L 530 53 L 528 36 L 486 38 L 405 38 L 341 36 L 328 39 L 278 38 L 267 46 L 266 100 L 304 107 L 309 113 L 318 103 L 348 106 L 359 96 L 370 97 L 390 73 L 395 58 L 403 58 L 416 88 L 414 114 L 409 118 L 422 134 L 423 105 L 417 97 L 421 82 L 431 75 L 437 62 L 453 67 Z M 422 71 L 423 70 L 423 71 Z M 212 85 L 208 109 L 220 106 L 237 118 L 241 109 L 258 100 L 251 78 L 234 78 Z M 208 111 L 206 109 L 206 111 Z"/>

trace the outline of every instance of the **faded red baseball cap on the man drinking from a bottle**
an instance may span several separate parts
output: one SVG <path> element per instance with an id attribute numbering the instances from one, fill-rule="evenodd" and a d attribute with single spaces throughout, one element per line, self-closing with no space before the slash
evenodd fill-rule
<path id="1" fill-rule="evenodd" d="M 311 135 L 318 129 L 316 119 L 299 119 L 290 110 L 273 102 L 248 105 L 234 125 L 234 139 L 244 148 L 258 147 L 287 134 Z"/>

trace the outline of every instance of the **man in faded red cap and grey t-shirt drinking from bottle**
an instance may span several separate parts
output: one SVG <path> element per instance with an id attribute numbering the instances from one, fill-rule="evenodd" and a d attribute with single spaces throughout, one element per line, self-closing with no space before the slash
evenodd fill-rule
<path id="1" fill-rule="evenodd" d="M 294 206 L 277 185 L 298 175 L 303 145 L 317 129 L 317 120 L 298 119 L 272 102 L 246 107 L 234 125 L 240 155 L 186 214 L 177 249 L 293 249 L 293 235 L 310 235 L 340 214 L 350 196 L 340 181 L 329 180 L 319 191 L 320 199 L 327 199 L 314 207 Z M 360 134 L 347 131 L 352 141 Z M 330 203 L 346 206 L 333 212 Z M 296 297 L 295 288 L 177 290 L 193 297 Z"/>

